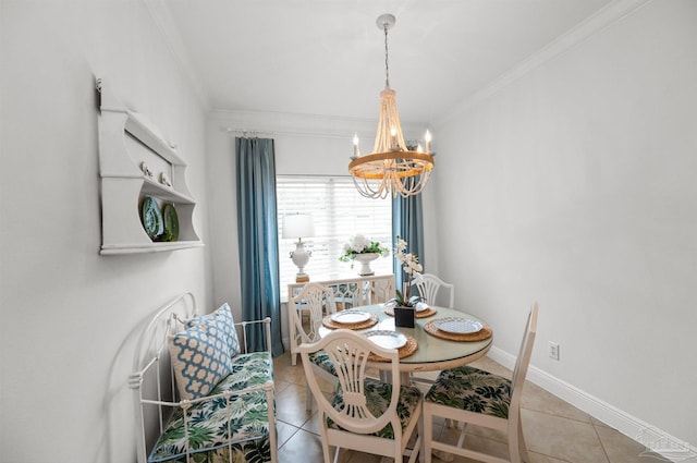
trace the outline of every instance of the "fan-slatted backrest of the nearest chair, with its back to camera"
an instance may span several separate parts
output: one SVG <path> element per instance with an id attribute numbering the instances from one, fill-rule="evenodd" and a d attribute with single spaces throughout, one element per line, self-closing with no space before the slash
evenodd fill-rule
<path id="1" fill-rule="evenodd" d="M 322 393 L 308 358 L 311 353 L 322 349 L 337 370 L 344 402 L 341 410 L 334 409 L 330 400 Z M 400 429 L 400 418 L 396 411 L 400 394 L 400 357 L 395 349 L 382 349 L 360 333 L 338 329 L 316 343 L 302 344 L 299 351 L 305 377 L 317 401 L 319 412 L 351 432 L 376 432 L 389 423 L 392 424 L 392 429 Z M 372 415 L 365 395 L 366 363 L 371 352 L 388 358 L 391 363 L 392 395 L 389 406 L 380 416 Z M 321 423 L 325 422 L 323 416 L 320 419 Z"/>

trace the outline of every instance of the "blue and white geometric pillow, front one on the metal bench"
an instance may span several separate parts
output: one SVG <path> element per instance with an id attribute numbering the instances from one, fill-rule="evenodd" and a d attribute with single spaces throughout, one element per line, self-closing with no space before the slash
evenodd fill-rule
<path id="1" fill-rule="evenodd" d="M 170 336 L 169 348 L 182 399 L 208 395 L 232 371 L 227 333 L 216 326 L 193 326 Z"/>

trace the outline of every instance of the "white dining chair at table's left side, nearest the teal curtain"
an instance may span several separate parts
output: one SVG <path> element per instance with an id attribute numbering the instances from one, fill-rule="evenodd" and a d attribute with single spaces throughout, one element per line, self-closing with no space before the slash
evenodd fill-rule
<path id="1" fill-rule="evenodd" d="M 299 345 L 318 341 L 320 339 L 319 327 L 322 325 L 323 317 L 337 313 L 333 291 L 319 283 L 307 283 L 296 296 L 291 297 L 289 310 L 292 310 L 294 328 L 292 331 L 291 363 L 295 365 L 295 356 L 299 352 Z M 303 313 L 307 313 L 309 316 L 307 326 L 303 324 Z M 310 367 L 325 381 L 331 386 L 337 385 L 337 371 L 325 352 L 315 352 L 304 362 L 309 362 Z M 306 390 L 306 407 L 308 411 L 313 409 L 313 393 L 309 386 Z"/>

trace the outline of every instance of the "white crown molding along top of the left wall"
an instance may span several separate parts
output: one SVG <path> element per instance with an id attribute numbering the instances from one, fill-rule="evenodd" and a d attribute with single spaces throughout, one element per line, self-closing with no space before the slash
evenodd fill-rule
<path id="1" fill-rule="evenodd" d="M 188 54 L 186 53 L 186 49 L 184 47 L 184 42 L 182 41 L 182 37 L 174 25 L 174 20 L 172 20 L 172 14 L 170 13 L 169 8 L 167 7 L 166 0 L 142 0 L 145 4 L 146 9 L 150 13 L 150 17 L 152 17 L 152 22 L 155 22 L 158 31 L 162 35 L 167 47 L 170 49 L 174 61 L 179 64 L 179 66 L 184 72 L 184 75 L 188 80 L 192 88 L 194 89 L 194 94 L 198 98 L 199 102 L 204 106 L 206 111 L 209 111 L 211 108 L 210 98 L 206 88 L 203 85 L 203 81 L 198 73 L 194 70 L 194 66 L 191 64 L 188 60 Z"/>

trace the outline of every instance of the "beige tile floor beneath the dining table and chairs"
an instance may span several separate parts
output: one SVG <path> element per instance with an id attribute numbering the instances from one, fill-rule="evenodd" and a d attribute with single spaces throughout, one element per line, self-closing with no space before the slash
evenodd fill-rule
<path id="1" fill-rule="evenodd" d="M 474 366 L 508 375 L 505 369 L 490 358 L 481 358 Z M 322 462 L 321 443 L 316 412 L 305 410 L 305 374 L 298 358 L 291 365 L 289 353 L 274 360 L 276 398 L 279 432 L 279 461 Z M 329 391 L 328 391 L 329 392 Z M 645 453 L 645 447 L 621 432 L 600 423 L 590 415 L 570 405 L 531 382 L 523 390 L 523 429 L 533 463 L 650 463 L 661 462 L 659 455 Z M 435 426 L 433 432 L 442 432 L 456 441 L 456 430 Z M 450 436 L 449 436 L 450 435 Z M 465 446 L 485 448 L 489 452 L 506 455 L 503 435 L 476 427 L 468 427 Z M 380 463 L 381 458 L 342 450 L 341 463 Z M 433 458 L 435 463 L 440 460 Z M 455 458 L 455 463 L 472 460 Z"/>

